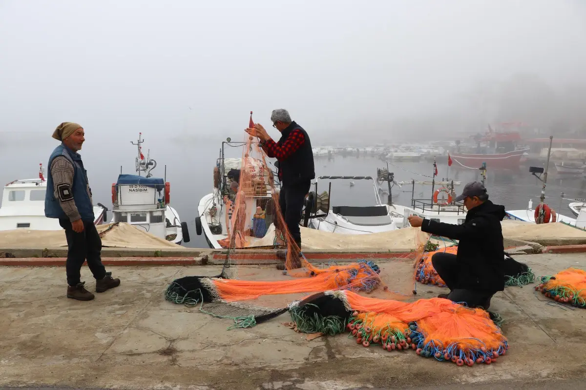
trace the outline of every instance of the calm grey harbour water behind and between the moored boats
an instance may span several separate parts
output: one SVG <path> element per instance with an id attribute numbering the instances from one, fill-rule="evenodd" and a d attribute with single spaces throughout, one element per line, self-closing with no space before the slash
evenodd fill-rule
<path id="1" fill-rule="evenodd" d="M 43 134 L 44 135 L 44 134 Z M 93 140 L 88 137 L 84 150 L 80 152 L 90 178 L 90 185 L 94 194 L 94 203 L 101 202 L 111 207 L 110 188 L 122 171 L 134 174 L 135 147 L 130 144 L 134 134 L 120 136 L 120 141 L 107 139 Z M 46 166 L 49 154 L 56 146 L 56 142 L 47 141 L 25 144 L 26 153 L 23 154 L 19 147 L 1 147 L 0 153 L 0 183 L 5 184 L 17 178 L 34 178 L 38 175 L 38 164 L 43 161 Z M 191 236 L 190 247 L 206 247 L 203 237 L 195 233 L 195 218 L 197 216 L 197 203 L 202 196 L 209 194 L 213 187 L 213 166 L 219 157 L 220 143 L 197 141 L 170 141 L 168 139 L 155 140 L 145 136 L 144 149 L 151 149 L 151 158 L 157 161 L 158 166 L 153 171 L 155 176 L 162 177 L 167 165 L 166 180 L 171 182 L 171 204 L 179 212 L 180 218 L 188 222 Z M 233 139 L 238 139 L 236 136 Z M 227 151 L 227 157 L 239 157 L 241 150 Z M 447 160 L 438 158 L 438 177 L 447 177 Z M 376 168 L 386 167 L 384 161 L 375 157 L 335 156 L 328 158 L 316 158 L 315 168 L 317 175 L 376 175 Z M 402 170 L 400 168 L 402 168 Z M 390 171 L 394 172 L 396 181 L 431 180 L 418 174 L 432 174 L 432 163 L 400 163 L 390 165 Z M 564 192 L 566 198 L 586 198 L 586 180 L 582 177 L 560 177 L 556 175 L 555 167 L 551 164 L 550 176 L 546 195 L 550 199 L 546 202 L 554 209 L 560 210 L 564 215 L 572 216 L 568 210 L 568 201 L 561 202 L 560 193 Z M 462 185 L 456 188 L 460 192 L 464 184 L 469 181 L 479 180 L 479 171 L 465 168 L 450 167 L 449 177 L 455 181 L 462 181 Z M 329 180 L 318 181 L 318 191 L 328 189 Z M 373 205 L 375 202 L 374 190 L 371 181 L 355 180 L 355 186 L 350 187 L 349 181 L 332 181 L 332 205 Z M 524 209 L 529 199 L 534 204 L 539 201 L 541 182 L 529 174 L 528 167 L 520 167 L 519 170 L 489 171 L 486 187 L 490 199 L 496 203 L 505 205 L 507 209 Z M 386 183 L 383 184 L 386 189 Z M 415 186 L 416 199 L 431 199 L 431 186 Z M 383 196 L 386 202 L 386 196 Z M 411 185 L 393 188 L 393 201 L 400 205 L 408 205 L 411 202 Z M 108 213 L 111 218 L 111 212 Z"/>

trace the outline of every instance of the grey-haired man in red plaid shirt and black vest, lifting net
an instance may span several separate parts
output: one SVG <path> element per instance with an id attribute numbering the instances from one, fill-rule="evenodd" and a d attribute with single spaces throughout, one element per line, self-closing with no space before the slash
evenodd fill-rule
<path id="1" fill-rule="evenodd" d="M 279 206 L 285 218 L 285 224 L 297 244 L 296 251 L 301 250 L 301 232 L 299 221 L 305 195 L 309 192 L 311 180 L 315 179 L 314 154 L 311 151 L 311 141 L 305 130 L 291 120 L 285 109 L 273 110 L 271 114 L 272 127 L 281 132 L 281 138 L 275 142 L 268 135 L 267 130 L 259 123 L 254 128 L 246 129 L 251 136 L 258 137 L 261 147 L 268 157 L 277 158 L 278 175 L 281 181 Z M 284 257 L 280 254 L 280 257 Z M 301 267 L 298 256 L 295 256 L 295 265 Z M 284 266 L 279 267 L 284 268 Z"/>

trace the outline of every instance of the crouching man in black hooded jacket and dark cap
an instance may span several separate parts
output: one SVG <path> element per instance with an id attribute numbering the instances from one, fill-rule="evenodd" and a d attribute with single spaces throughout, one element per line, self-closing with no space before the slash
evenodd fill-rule
<path id="1" fill-rule="evenodd" d="M 468 209 L 462 225 L 435 222 L 410 216 L 413 227 L 423 232 L 459 240 L 458 254 L 436 253 L 431 258 L 435 271 L 444 279 L 449 294 L 439 298 L 465 302 L 469 307 L 488 309 L 490 298 L 505 289 L 505 251 L 500 221 L 505 218 L 505 206 L 488 200 L 481 182 L 466 184 L 456 201 L 464 201 Z"/>

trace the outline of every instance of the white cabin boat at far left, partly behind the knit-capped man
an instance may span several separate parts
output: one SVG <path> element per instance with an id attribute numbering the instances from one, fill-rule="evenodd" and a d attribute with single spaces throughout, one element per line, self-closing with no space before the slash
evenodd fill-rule
<path id="1" fill-rule="evenodd" d="M 59 220 L 45 216 L 47 182 L 39 164 L 39 178 L 15 180 L 5 185 L 0 206 L 0 230 L 32 229 L 62 230 Z M 94 224 L 106 219 L 107 208 L 101 203 L 94 206 Z"/>

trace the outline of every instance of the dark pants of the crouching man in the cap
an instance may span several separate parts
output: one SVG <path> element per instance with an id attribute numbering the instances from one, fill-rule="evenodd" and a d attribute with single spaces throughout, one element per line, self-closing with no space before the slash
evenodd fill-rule
<path id="1" fill-rule="evenodd" d="M 457 288 L 459 285 L 458 263 L 455 254 L 436 253 L 431 258 L 431 264 L 449 288 L 447 299 L 452 302 L 465 302 L 470 308 L 482 306 L 482 308 L 488 309 L 490 298 L 494 295 L 493 292 Z"/>

